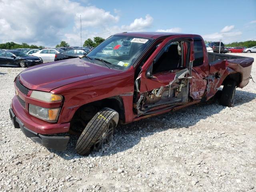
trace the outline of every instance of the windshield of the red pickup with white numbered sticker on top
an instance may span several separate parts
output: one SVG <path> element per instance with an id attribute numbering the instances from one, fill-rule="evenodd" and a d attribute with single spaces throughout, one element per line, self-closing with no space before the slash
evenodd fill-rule
<path id="1" fill-rule="evenodd" d="M 125 70 L 136 62 L 151 42 L 151 39 L 115 35 L 102 42 L 82 59 L 90 59 L 109 68 Z"/>

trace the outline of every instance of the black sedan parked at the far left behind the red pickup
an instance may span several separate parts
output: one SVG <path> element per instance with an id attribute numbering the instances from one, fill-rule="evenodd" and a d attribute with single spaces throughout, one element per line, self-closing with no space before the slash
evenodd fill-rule
<path id="1" fill-rule="evenodd" d="M 30 67 L 42 63 L 42 59 L 30 56 L 22 51 L 8 50 L 0 52 L 0 66 Z"/>

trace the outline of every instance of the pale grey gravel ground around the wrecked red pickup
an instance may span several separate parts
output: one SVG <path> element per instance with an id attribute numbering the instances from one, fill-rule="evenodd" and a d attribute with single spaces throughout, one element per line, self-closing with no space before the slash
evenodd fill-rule
<path id="1" fill-rule="evenodd" d="M 238 55 L 238 54 L 237 54 Z M 256 54 L 239 54 L 254 57 Z M 256 84 L 217 102 L 119 125 L 110 144 L 78 156 L 35 144 L 8 108 L 21 68 L 0 68 L 0 191 L 256 191 Z M 256 81 L 255 62 L 252 76 Z"/>

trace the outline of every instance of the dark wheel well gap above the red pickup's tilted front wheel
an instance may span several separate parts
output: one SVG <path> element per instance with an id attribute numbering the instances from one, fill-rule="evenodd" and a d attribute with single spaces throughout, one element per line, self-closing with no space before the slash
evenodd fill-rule
<path id="1" fill-rule="evenodd" d="M 114 96 L 80 106 L 71 120 L 71 126 L 76 124 L 78 119 L 82 119 L 83 125 L 87 124 L 87 122 L 104 107 L 112 108 L 117 111 L 119 120 L 125 122 L 123 100 L 120 96 Z"/>

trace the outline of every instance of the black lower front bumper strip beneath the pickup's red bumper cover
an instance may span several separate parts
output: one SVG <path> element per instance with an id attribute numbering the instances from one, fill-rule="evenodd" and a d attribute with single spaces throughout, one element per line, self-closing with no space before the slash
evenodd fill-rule
<path id="1" fill-rule="evenodd" d="M 14 128 L 20 128 L 22 132 L 32 141 L 37 142 L 46 148 L 59 151 L 66 150 L 69 136 L 49 136 L 36 133 L 24 126 L 20 119 L 14 114 L 12 108 L 9 109 L 9 112 Z"/>

